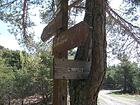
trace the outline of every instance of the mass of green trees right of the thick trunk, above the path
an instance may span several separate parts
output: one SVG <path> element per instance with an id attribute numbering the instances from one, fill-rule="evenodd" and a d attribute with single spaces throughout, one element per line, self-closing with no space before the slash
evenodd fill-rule
<path id="1" fill-rule="evenodd" d="M 122 89 L 124 93 L 140 92 L 140 68 L 136 63 L 128 60 L 126 55 L 120 55 L 121 63 L 108 67 L 105 87 L 110 89 Z"/>

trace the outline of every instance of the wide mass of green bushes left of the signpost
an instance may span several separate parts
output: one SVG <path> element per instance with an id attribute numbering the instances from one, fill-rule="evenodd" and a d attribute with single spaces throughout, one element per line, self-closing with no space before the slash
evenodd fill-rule
<path id="1" fill-rule="evenodd" d="M 24 51 L 0 50 L 0 104 L 35 94 L 48 101 L 52 96 L 51 70 L 49 52 L 30 55 Z"/>

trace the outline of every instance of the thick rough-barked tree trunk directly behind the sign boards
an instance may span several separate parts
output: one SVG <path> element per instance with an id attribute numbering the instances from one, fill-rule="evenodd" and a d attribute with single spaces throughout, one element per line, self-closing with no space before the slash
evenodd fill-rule
<path id="1" fill-rule="evenodd" d="M 70 80 L 71 105 L 97 105 L 97 97 L 106 71 L 105 0 L 86 0 L 85 21 L 90 35 L 78 48 L 75 59 L 91 61 L 87 80 Z"/>

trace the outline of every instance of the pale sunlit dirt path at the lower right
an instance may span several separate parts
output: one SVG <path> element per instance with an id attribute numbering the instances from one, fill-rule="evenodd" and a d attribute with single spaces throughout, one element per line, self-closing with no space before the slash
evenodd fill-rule
<path id="1" fill-rule="evenodd" d="M 109 93 L 114 92 L 111 90 L 102 90 L 99 93 L 98 105 L 140 105 L 140 99 L 128 99 L 119 96 L 112 96 Z"/>

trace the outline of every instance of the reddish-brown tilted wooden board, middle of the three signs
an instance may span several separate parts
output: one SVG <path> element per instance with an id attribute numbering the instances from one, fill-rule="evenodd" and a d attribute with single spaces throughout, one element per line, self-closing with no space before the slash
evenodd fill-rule
<path id="1" fill-rule="evenodd" d="M 84 44 L 89 34 L 89 26 L 84 21 L 60 33 L 54 38 L 53 53 L 70 50 Z"/>

